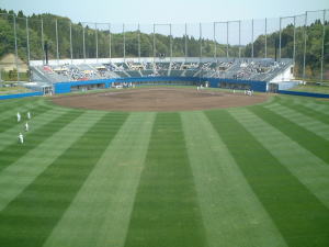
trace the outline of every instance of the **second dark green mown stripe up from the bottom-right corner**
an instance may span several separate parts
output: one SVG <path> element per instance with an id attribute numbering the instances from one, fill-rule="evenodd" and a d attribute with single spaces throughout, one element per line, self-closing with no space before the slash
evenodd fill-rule
<path id="1" fill-rule="evenodd" d="M 256 115 L 271 124 L 275 128 L 280 130 L 291 139 L 298 143 L 304 148 L 329 164 L 329 142 L 306 130 L 305 127 L 298 126 L 286 117 L 265 109 L 263 106 L 249 108 Z"/>

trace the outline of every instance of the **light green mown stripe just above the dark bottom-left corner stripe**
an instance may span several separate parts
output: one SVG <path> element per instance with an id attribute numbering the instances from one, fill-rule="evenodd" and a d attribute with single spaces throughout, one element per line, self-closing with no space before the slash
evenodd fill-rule
<path id="1" fill-rule="evenodd" d="M 0 172 L 0 211 L 104 113 L 83 113 Z M 64 142 L 65 141 L 65 142 Z"/>

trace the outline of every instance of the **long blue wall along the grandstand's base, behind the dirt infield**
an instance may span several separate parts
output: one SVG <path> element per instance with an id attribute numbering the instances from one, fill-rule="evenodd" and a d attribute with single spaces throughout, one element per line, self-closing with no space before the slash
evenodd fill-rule
<path id="1" fill-rule="evenodd" d="M 219 88 L 220 82 L 226 83 L 245 83 L 249 85 L 253 91 L 265 92 L 265 81 L 256 80 L 235 80 L 235 79 L 222 79 L 222 78 L 198 78 L 198 77 L 126 77 L 126 78 L 113 78 L 113 79 L 99 79 L 99 80 L 87 80 L 87 81 L 67 81 L 58 82 L 54 85 L 55 93 L 68 93 L 71 92 L 71 87 L 98 85 L 104 83 L 105 88 L 110 88 L 114 82 L 152 82 L 152 81 L 191 81 L 191 82 L 209 82 L 211 88 Z M 172 85 L 172 83 L 171 83 Z"/>

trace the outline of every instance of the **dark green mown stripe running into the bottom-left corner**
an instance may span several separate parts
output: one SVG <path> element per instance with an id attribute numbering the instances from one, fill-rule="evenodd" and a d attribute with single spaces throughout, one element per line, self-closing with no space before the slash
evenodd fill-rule
<path id="1" fill-rule="evenodd" d="M 126 116 L 104 115 L 0 213 L 2 246 L 44 244 Z"/>

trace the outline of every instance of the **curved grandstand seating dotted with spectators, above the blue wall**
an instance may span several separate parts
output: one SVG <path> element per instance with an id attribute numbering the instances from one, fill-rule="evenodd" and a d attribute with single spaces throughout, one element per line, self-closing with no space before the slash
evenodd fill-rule
<path id="1" fill-rule="evenodd" d="M 95 59 L 86 59 L 71 64 L 52 60 L 49 65 L 43 61 L 31 61 L 31 70 L 34 81 L 65 82 L 79 80 L 95 80 L 106 78 L 127 77 L 203 77 L 226 78 L 241 80 L 271 81 L 277 75 L 287 71 L 292 66 L 292 59 L 275 61 L 271 58 L 174 58 L 173 61 L 157 60 L 154 58 L 136 58 L 125 60 L 115 58 L 101 63 Z"/>

